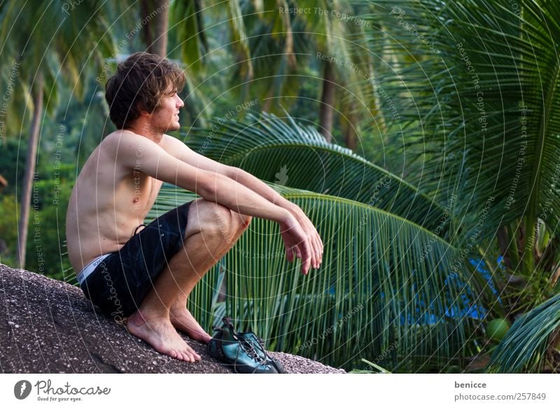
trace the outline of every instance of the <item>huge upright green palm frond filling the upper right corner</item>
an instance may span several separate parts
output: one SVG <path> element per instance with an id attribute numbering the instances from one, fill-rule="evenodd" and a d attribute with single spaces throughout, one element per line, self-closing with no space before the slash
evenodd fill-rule
<path id="1" fill-rule="evenodd" d="M 559 4 L 519 1 L 521 14 L 486 0 L 376 4 L 367 18 L 376 28 L 383 22 L 384 39 L 372 34 L 367 46 L 379 56 L 377 78 L 406 128 L 407 155 L 423 158 L 417 163 L 421 179 L 412 169 L 406 178 L 440 203 L 451 192 L 462 198 L 465 238 L 480 229 L 477 220 L 490 197 L 483 237 L 500 225 L 518 230 L 520 220 L 531 237 L 537 217 L 555 229 Z M 405 23 L 416 26 L 407 30 Z M 405 64 L 402 55 L 413 62 Z M 526 261 L 532 259 L 525 252 Z"/>

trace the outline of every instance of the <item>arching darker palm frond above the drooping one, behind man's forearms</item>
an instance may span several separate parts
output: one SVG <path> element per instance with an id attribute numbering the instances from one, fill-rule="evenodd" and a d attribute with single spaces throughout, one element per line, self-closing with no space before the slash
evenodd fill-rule
<path id="1" fill-rule="evenodd" d="M 442 219 L 447 219 L 446 210 L 412 184 L 325 142 L 313 126 L 300 125 L 290 116 L 287 122 L 265 112 L 243 121 L 218 119 L 210 132 L 193 129 L 188 144 L 260 179 L 374 205 L 430 231 L 438 225 L 441 229 Z"/>

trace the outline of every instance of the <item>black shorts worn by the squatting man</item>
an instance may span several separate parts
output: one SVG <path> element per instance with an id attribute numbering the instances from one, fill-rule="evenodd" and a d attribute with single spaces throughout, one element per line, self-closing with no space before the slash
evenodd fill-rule
<path id="1" fill-rule="evenodd" d="M 137 311 L 155 278 L 183 247 L 189 205 L 158 217 L 103 259 L 81 285 L 92 304 L 115 320 Z"/>

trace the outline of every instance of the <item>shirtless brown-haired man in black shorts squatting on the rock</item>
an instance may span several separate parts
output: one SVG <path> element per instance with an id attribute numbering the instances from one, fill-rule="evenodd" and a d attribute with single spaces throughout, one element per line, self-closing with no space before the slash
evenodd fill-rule
<path id="1" fill-rule="evenodd" d="M 66 214 L 68 254 L 92 303 L 156 351 L 200 360 L 177 329 L 208 343 L 186 308 L 193 287 L 223 257 L 251 222 L 278 222 L 288 261 L 302 273 L 318 268 L 323 243 L 297 205 L 238 168 L 195 153 L 174 137 L 177 95 L 185 77 L 169 61 L 136 53 L 119 64 L 106 85 L 111 121 L 87 159 Z M 202 198 L 167 212 L 144 227 L 163 182 Z"/>

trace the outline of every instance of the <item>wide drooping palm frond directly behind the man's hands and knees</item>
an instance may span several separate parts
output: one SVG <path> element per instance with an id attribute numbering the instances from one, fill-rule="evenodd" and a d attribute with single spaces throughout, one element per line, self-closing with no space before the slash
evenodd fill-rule
<path id="1" fill-rule="evenodd" d="M 468 278 L 462 268 L 456 279 L 450 277 L 453 247 L 370 205 L 271 186 L 316 224 L 325 242 L 323 266 L 302 276 L 284 257 L 278 226 L 254 219 L 223 259 L 227 311 L 239 325 L 255 330 L 276 350 L 344 367 L 364 355 L 380 355 L 396 342 L 384 366 L 405 370 L 414 361 L 416 369 L 427 371 L 470 343 L 475 322 L 465 304 L 477 302 L 458 284 Z M 166 185 L 151 216 L 194 198 Z M 423 252 L 428 245 L 430 252 Z M 190 298 L 204 327 L 214 322 L 216 268 Z"/>

